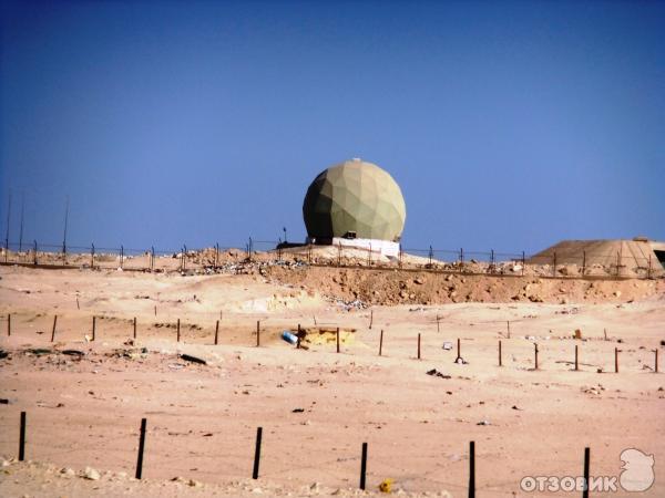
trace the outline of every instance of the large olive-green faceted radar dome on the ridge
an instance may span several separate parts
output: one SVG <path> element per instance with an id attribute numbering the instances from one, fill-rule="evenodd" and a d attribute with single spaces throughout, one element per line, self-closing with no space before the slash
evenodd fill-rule
<path id="1" fill-rule="evenodd" d="M 303 203 L 309 238 L 355 234 L 359 239 L 399 241 L 407 208 L 399 185 L 376 164 L 347 160 L 320 173 Z"/>

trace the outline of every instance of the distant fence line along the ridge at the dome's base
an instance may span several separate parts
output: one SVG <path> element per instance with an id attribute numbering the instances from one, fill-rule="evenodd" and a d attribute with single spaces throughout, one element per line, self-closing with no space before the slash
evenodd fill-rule
<path id="1" fill-rule="evenodd" d="M 557 257 L 552 255 L 526 255 L 520 252 L 469 251 L 460 248 L 427 249 L 400 248 L 396 258 L 385 258 L 371 248 L 354 248 L 349 246 L 329 246 L 335 255 L 321 257 L 315 248 L 321 246 L 289 245 L 280 240 L 254 240 L 244 247 L 219 246 L 208 248 L 146 249 L 91 246 L 66 246 L 55 243 L 31 245 L 6 242 L 2 248 L 0 263 L 69 267 L 126 269 L 143 271 L 186 271 L 200 269 L 223 269 L 228 263 L 244 261 L 258 262 L 301 262 L 331 267 L 376 267 L 406 268 L 442 272 L 461 272 L 466 274 L 509 274 L 538 276 L 556 278 L 663 278 L 664 269 L 656 258 L 624 256 L 621 252 L 598 253 L 582 251 L 582 255 Z M 362 256 L 360 256 L 362 255 Z M 160 261 L 156 264 L 157 259 Z M 166 260 L 173 262 L 166 264 Z M 604 263 L 598 263 L 604 261 Z"/>

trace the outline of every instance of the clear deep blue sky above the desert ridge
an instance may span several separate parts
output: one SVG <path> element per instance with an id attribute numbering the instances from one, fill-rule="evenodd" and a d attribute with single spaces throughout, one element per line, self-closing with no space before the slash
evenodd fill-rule
<path id="1" fill-rule="evenodd" d="M 10 239 L 303 240 L 361 157 L 407 248 L 665 240 L 665 2 L 2 2 Z"/>

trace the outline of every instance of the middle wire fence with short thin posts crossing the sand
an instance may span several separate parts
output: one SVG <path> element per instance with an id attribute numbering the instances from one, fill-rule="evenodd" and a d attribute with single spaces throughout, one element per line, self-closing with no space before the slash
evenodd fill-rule
<path id="1" fill-rule="evenodd" d="M 156 311 L 156 310 L 155 310 Z M 275 325 L 269 325 L 269 320 L 262 321 L 257 320 L 255 325 L 253 322 L 252 326 L 248 325 L 238 325 L 234 324 L 234 331 L 242 331 L 247 333 L 247 338 L 250 339 L 245 344 L 238 343 L 237 341 L 229 342 L 229 338 L 227 336 L 228 330 L 222 330 L 219 333 L 219 324 L 222 320 L 217 320 L 216 323 L 211 323 L 209 326 L 201 326 L 197 323 L 182 320 L 180 318 L 173 319 L 171 318 L 166 322 L 157 322 L 157 321 L 149 321 L 140 322 L 136 318 L 122 318 L 114 317 L 110 324 L 106 324 L 103 319 L 108 318 L 104 315 L 92 314 L 85 315 L 89 320 L 90 328 L 85 329 L 83 332 L 81 331 L 79 320 L 82 317 L 79 317 L 74 323 L 76 326 L 73 328 L 71 319 L 69 321 L 64 321 L 61 318 L 59 321 L 59 315 L 53 314 L 52 321 L 51 317 L 45 314 L 38 314 L 35 317 L 31 317 L 27 319 L 22 314 L 12 314 L 7 313 L 6 315 L 0 318 L 0 323 L 3 323 L 4 333 L 2 334 L 6 338 L 12 336 L 21 336 L 23 339 L 27 338 L 27 331 L 32 325 L 32 320 L 35 318 L 40 318 L 42 320 L 42 324 L 37 333 L 39 335 L 43 335 L 44 339 L 40 342 L 50 343 L 51 346 L 58 342 L 61 345 L 62 341 L 85 341 L 94 344 L 100 340 L 112 340 L 112 341 L 124 341 L 123 344 L 134 345 L 137 340 L 144 339 L 155 339 L 155 338 L 164 338 L 164 334 L 167 335 L 167 339 L 175 341 L 176 343 L 190 343 L 190 344 L 202 344 L 209 346 L 217 345 L 245 345 L 245 346 L 256 346 L 256 347 L 275 347 L 277 344 L 279 346 L 285 345 L 286 343 L 291 344 L 297 350 L 311 350 L 315 349 L 315 352 L 336 352 L 337 354 L 354 354 L 352 346 L 348 346 L 345 341 L 345 330 L 342 330 L 338 325 L 334 326 L 300 326 L 297 325 L 294 330 L 284 329 L 282 325 L 279 329 L 275 329 Z M 66 317 L 65 317 L 66 318 Z M 17 320 L 18 319 L 18 320 Z M 268 324 L 266 325 L 266 322 Z M 492 321 L 487 322 L 492 325 L 504 324 L 505 329 L 499 332 L 499 338 L 493 345 L 490 345 L 490 350 L 493 350 L 485 365 L 489 367 L 499 367 L 503 370 L 516 369 L 516 370 L 530 370 L 530 371 L 542 371 L 542 370 L 555 370 L 555 371 L 566 371 L 566 372 L 595 372 L 597 374 L 604 374 L 608 372 L 613 372 L 618 374 L 620 372 L 651 372 L 651 373 L 659 373 L 658 367 L 658 347 L 657 344 L 654 344 L 654 349 L 641 347 L 640 351 L 633 351 L 631 349 L 625 350 L 623 346 L 623 339 L 615 338 L 613 335 L 608 335 L 607 329 L 603 329 L 603 334 L 597 334 L 596 336 L 585 338 L 585 341 L 592 340 L 596 343 L 594 347 L 582 347 L 579 342 L 583 341 L 582 332 L 576 330 L 574 334 L 552 338 L 550 335 L 545 336 L 536 336 L 526 334 L 523 335 L 524 330 L 515 333 L 515 324 L 528 323 L 528 321 L 516 320 L 516 321 Z M 117 324 L 121 323 L 122 326 L 120 330 L 117 329 Z M 436 320 L 429 324 L 431 331 L 429 332 L 418 332 L 412 336 L 412 342 L 410 344 L 406 344 L 403 340 L 400 340 L 397 345 L 388 339 L 388 333 L 390 330 L 387 326 L 380 328 L 380 334 L 376 338 L 376 343 L 371 344 L 371 347 L 375 349 L 378 356 L 393 356 L 397 357 L 401 355 L 402 357 L 407 357 L 410 360 L 441 360 L 441 349 L 443 350 L 443 356 L 446 355 L 454 355 L 453 363 L 456 364 L 468 364 L 469 360 L 472 360 L 474 364 L 478 364 L 479 353 L 487 353 L 487 346 L 477 346 L 471 341 L 463 340 L 458 336 L 457 342 L 452 340 L 447 340 L 443 342 L 442 346 L 439 343 L 441 339 L 440 334 L 440 323 L 439 315 L 437 315 Z M 454 324 L 454 322 L 450 322 L 446 320 L 446 324 Z M 374 312 L 368 317 L 368 330 L 371 330 L 374 324 Z M 227 325 L 225 325 L 227 326 Z M 376 326 L 375 326 L 376 329 Z M 166 330 L 166 332 L 164 332 Z M 436 330 L 436 335 L 432 332 Z M 528 329 L 529 330 L 529 329 Z M 383 335 L 383 331 L 387 332 L 386 340 Z M 50 333 L 48 333 L 50 332 Z M 311 338 L 310 338 L 311 335 Z M 320 342 L 321 335 L 325 336 L 326 341 Z M 126 339 L 132 338 L 133 341 L 126 341 Z M 296 338 L 297 341 L 293 340 Z M 436 338 L 436 342 L 434 342 Z M 33 339 L 33 338 L 32 338 Z M 313 341 L 310 341 L 313 339 Z M 266 342 L 267 341 L 267 342 Z M 573 344 L 570 344 L 570 341 Z M 277 343 L 277 344 L 276 344 Z M 321 345 L 324 344 L 324 345 Z M 329 346 L 325 344 L 331 344 Z M 370 346 L 370 344 L 366 344 Z M 663 344 L 661 344 L 663 347 Z M 390 350 L 390 351 L 388 351 Z M 399 353 L 396 352 L 399 351 Z M 386 354 L 388 352 L 388 354 Z M 469 352 L 471 352 L 469 354 Z M 51 349 L 45 349 L 42 354 L 59 354 L 60 352 Z M 367 350 L 364 350 L 361 354 L 366 354 Z M 72 354 L 81 356 L 84 355 L 83 352 L 73 352 Z M 124 354 L 124 353 L 123 353 Z M 182 355 L 181 355 L 182 357 Z M 483 361 L 484 355 L 482 355 Z M 205 361 L 201 361 L 197 359 L 193 359 L 193 356 L 187 356 L 184 359 L 185 361 L 202 363 L 205 364 Z M 620 369 L 620 360 L 621 360 L 621 369 Z M 590 363 L 591 362 L 591 363 Z M 437 373 L 430 373 L 430 375 L 439 376 Z"/>

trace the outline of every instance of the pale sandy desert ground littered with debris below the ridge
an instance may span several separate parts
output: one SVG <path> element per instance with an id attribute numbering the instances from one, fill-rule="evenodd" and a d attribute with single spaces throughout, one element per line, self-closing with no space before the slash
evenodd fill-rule
<path id="1" fill-rule="evenodd" d="M 520 481 L 580 476 L 585 447 L 592 476 L 618 476 L 626 448 L 653 455 L 655 483 L 631 495 L 665 496 L 665 378 L 654 372 L 663 280 L 249 273 L 0 268 L 0 496 L 364 496 L 391 478 L 393 494 L 460 497 L 471 440 L 478 496 L 581 496 L 524 491 Z M 311 332 L 307 350 L 280 339 L 298 324 Z M 335 333 L 316 333 L 337 326 L 340 353 Z"/>

